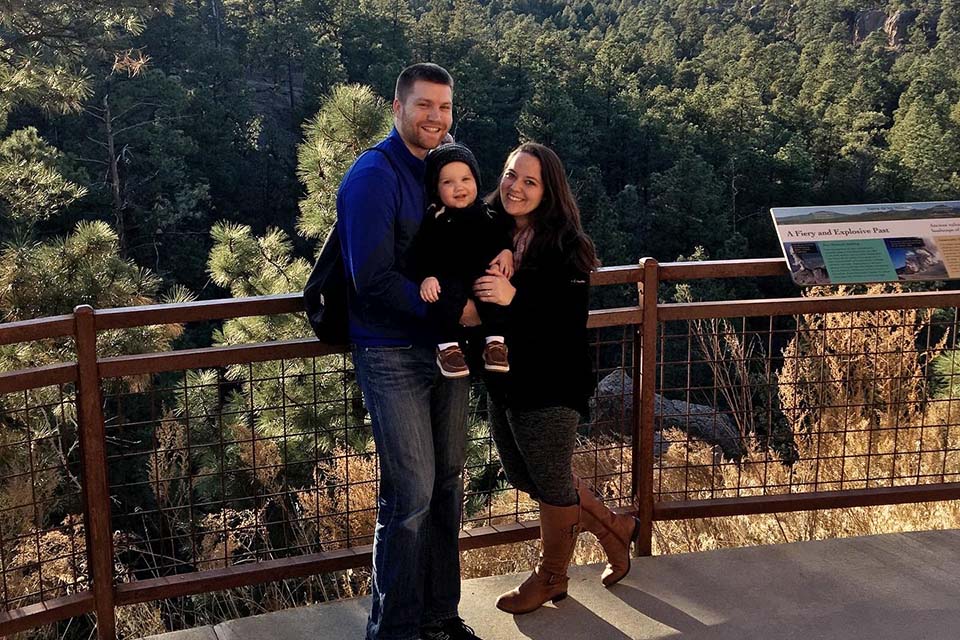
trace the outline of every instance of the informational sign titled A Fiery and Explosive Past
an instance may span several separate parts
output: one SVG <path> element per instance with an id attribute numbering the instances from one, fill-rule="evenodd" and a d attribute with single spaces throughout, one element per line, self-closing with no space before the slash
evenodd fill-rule
<path id="1" fill-rule="evenodd" d="M 960 201 L 770 212 L 797 284 L 960 278 Z"/>

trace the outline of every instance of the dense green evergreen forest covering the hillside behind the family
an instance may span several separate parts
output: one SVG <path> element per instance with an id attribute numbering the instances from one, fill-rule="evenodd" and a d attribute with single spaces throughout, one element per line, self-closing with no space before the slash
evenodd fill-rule
<path id="1" fill-rule="evenodd" d="M 773 206 L 960 199 L 958 60 L 960 0 L 0 0 L 0 321 L 68 314 L 79 304 L 300 291 L 333 223 L 341 176 L 390 130 L 397 74 L 418 61 L 454 76 L 451 132 L 476 153 L 485 190 L 518 142 L 557 151 L 604 265 L 778 257 Z M 751 291 L 785 291 L 783 282 L 764 286 Z M 107 331 L 98 348 L 113 356 L 309 335 L 302 317 L 242 318 Z M 0 371 L 69 361 L 73 349 L 69 340 L 0 346 Z M 339 398 L 339 386 L 318 384 L 308 366 L 261 363 L 162 380 L 170 392 L 162 410 L 174 422 L 239 414 L 258 394 L 275 393 L 277 380 L 301 374 L 283 393 L 303 404 Z M 145 384 L 116 381 L 108 395 Z M 16 550 L 4 539 L 31 518 L 44 520 L 37 528 L 73 526 L 78 496 L 59 472 L 33 479 L 52 505 L 42 517 L 9 507 L 17 469 L 45 456 L 76 459 L 64 441 L 38 446 L 29 460 L 7 446 L 18 434 L 40 437 L 69 423 L 75 416 L 65 404 L 56 388 L 3 398 L 7 557 Z M 146 432 L 154 424 L 136 415 L 144 406 L 108 400 L 108 420 L 126 411 Z M 362 410 L 352 419 L 362 426 Z M 264 433 L 278 428 L 277 415 L 257 420 Z M 305 433 L 333 418 L 290 420 Z M 218 429 L 235 427 L 210 418 L 192 437 L 222 446 Z M 164 429 L 141 442 L 180 451 L 181 436 Z M 352 433 L 356 441 L 331 440 L 324 452 L 369 451 L 368 432 Z M 300 455 L 291 442 L 274 452 L 278 460 Z M 234 461 L 247 455 L 242 445 L 231 451 Z M 178 470 L 165 477 L 216 464 L 191 455 L 164 458 Z M 373 478 L 371 459 L 356 464 Z M 123 472 L 159 477 L 134 462 Z M 340 477 L 337 464 L 322 473 L 304 467 L 296 486 L 322 493 L 311 484 L 321 484 L 316 473 Z M 230 490 L 275 480 L 246 478 Z M 216 491 L 164 486 L 164 495 L 120 495 L 117 503 L 175 507 L 184 492 Z M 290 503 L 297 500 L 307 504 L 296 496 Z M 177 570 L 215 567 L 203 566 L 204 545 L 213 555 L 229 545 L 190 544 L 164 550 Z M 127 577 L 146 572 L 144 557 L 130 562 Z M 36 580 L 43 590 L 42 577 L 22 573 L 24 584 Z M 341 576 L 319 580 L 319 593 L 271 597 L 302 604 L 362 592 L 358 582 Z M 238 602 L 211 598 L 189 614 L 182 603 L 145 606 L 126 614 L 120 635 L 260 610 Z M 64 623 L 29 637 L 87 637 L 91 628 L 89 620 Z"/>

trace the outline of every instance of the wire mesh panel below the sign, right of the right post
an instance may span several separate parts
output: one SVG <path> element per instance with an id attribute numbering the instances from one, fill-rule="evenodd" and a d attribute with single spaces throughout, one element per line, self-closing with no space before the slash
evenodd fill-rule
<path id="1" fill-rule="evenodd" d="M 657 499 L 956 481 L 956 325 L 953 308 L 662 323 Z"/>

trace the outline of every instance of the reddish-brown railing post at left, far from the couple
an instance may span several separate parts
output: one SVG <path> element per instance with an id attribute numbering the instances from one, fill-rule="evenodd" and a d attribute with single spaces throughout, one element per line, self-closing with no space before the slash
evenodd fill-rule
<path id="1" fill-rule="evenodd" d="M 93 582 L 99 640 L 116 640 L 113 591 L 113 535 L 107 484 L 106 429 L 97 365 L 97 328 L 93 307 L 74 309 L 77 340 L 77 397 L 83 460 L 83 515 L 87 566 Z"/>

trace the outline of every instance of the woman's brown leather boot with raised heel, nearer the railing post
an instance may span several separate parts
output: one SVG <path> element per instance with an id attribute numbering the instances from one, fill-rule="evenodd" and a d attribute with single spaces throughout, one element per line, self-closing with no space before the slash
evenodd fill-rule
<path id="1" fill-rule="evenodd" d="M 573 476 L 580 494 L 580 528 L 597 536 L 607 554 L 607 568 L 600 580 L 609 587 L 630 572 L 630 543 L 640 534 L 640 521 L 614 513 L 593 493 L 589 483 Z"/>

